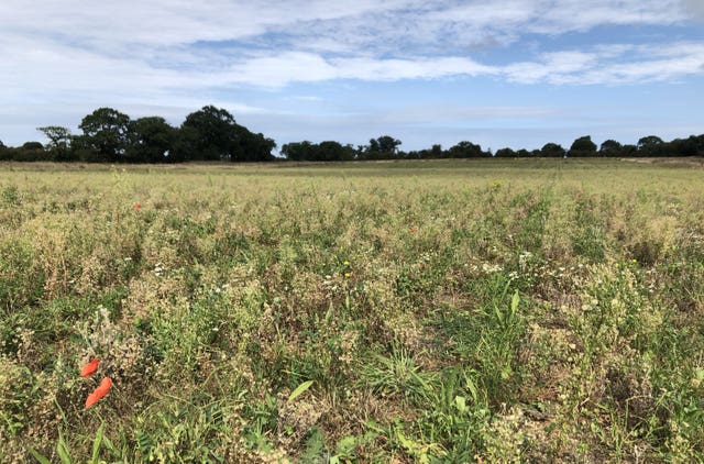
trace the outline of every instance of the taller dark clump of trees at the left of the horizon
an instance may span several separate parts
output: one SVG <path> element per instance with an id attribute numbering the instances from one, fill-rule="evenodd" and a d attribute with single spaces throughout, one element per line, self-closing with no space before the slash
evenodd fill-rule
<path id="1" fill-rule="evenodd" d="M 0 159 L 86 163 L 183 163 L 191 161 L 272 161 L 276 143 L 235 122 L 227 110 L 207 106 L 186 117 L 179 128 L 164 118 L 131 119 L 112 108 L 86 115 L 81 134 L 58 125 L 37 128 L 48 142 L 7 147 Z"/>

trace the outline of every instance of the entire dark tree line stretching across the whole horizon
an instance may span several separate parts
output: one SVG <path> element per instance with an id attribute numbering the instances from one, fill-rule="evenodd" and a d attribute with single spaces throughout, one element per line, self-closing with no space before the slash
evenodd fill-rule
<path id="1" fill-rule="evenodd" d="M 99 108 L 86 115 L 74 135 L 67 128 L 37 128 L 48 142 L 28 142 L 7 147 L 0 141 L 0 161 L 53 161 L 96 163 L 183 163 L 190 161 L 268 162 L 276 158 L 274 140 L 253 133 L 235 122 L 227 110 L 207 106 L 186 117 L 178 128 L 164 118 L 130 119 L 112 108 Z M 292 142 L 280 154 L 289 161 L 333 162 L 372 159 L 514 158 L 514 157 L 653 157 L 703 156 L 704 134 L 666 142 L 657 135 L 622 145 L 607 140 L 596 145 L 590 135 L 578 137 L 569 148 L 547 143 L 540 150 L 483 150 L 463 141 L 450 148 L 432 145 L 420 151 L 402 151 L 402 142 L 389 135 L 371 139 L 366 145 L 343 145 L 336 141 Z"/>

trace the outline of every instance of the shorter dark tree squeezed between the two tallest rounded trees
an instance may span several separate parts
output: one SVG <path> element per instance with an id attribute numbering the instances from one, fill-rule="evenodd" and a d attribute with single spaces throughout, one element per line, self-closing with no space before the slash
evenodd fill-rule
<path id="1" fill-rule="evenodd" d="M 131 163 L 165 163 L 175 139 L 176 129 L 164 118 L 136 119 L 130 122 L 130 145 L 125 158 Z"/>

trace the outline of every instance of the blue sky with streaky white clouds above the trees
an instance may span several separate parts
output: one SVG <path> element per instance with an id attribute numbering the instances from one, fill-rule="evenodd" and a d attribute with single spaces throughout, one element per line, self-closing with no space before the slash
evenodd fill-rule
<path id="1" fill-rule="evenodd" d="M 2 0 L 0 141 L 213 104 L 288 142 L 704 133 L 704 0 Z"/>

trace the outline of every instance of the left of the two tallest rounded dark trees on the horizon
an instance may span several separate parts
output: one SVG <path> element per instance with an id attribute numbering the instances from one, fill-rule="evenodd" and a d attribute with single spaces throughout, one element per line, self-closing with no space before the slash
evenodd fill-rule
<path id="1" fill-rule="evenodd" d="M 112 108 L 99 108 L 82 119 L 77 142 L 96 154 L 99 162 L 124 161 L 130 142 L 130 117 Z"/>

